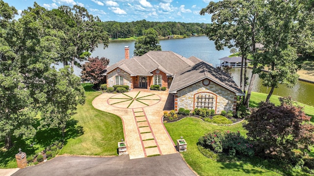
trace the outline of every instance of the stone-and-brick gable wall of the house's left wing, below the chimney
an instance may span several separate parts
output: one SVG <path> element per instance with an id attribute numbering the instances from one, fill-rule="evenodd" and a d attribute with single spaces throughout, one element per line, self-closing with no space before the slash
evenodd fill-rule
<path id="1" fill-rule="evenodd" d="M 107 87 L 113 87 L 113 85 L 116 85 L 116 76 L 118 75 L 123 76 L 123 85 L 128 85 L 130 88 L 133 88 L 131 75 L 123 69 L 121 69 L 120 73 L 118 73 L 116 69 L 107 73 Z"/>

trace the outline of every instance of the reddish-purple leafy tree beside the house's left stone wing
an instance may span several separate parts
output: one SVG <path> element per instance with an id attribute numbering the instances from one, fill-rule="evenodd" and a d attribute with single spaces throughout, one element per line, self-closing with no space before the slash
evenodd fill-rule
<path id="1" fill-rule="evenodd" d="M 81 78 L 83 81 L 90 81 L 93 83 L 97 88 L 100 87 L 101 81 L 104 80 L 105 75 L 104 73 L 105 68 L 109 64 L 109 59 L 102 57 L 102 58 L 88 58 L 88 61 L 82 65 L 81 71 Z"/>

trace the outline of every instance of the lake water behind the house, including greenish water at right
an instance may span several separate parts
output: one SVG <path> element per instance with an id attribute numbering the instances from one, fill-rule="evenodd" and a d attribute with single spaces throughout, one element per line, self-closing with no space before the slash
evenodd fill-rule
<path id="1" fill-rule="evenodd" d="M 130 46 L 130 58 L 133 54 L 135 41 L 111 41 L 109 46 L 103 49 L 103 45 L 99 44 L 99 47 L 92 52 L 92 57 L 106 57 L 110 60 L 109 65 L 112 65 L 121 59 L 124 59 L 124 46 Z M 209 41 L 206 36 L 190 37 L 184 39 L 173 40 L 160 40 L 161 49 L 163 51 L 173 51 L 186 58 L 195 56 L 203 61 L 211 63 L 213 66 L 219 66 L 219 58 L 223 58 L 230 55 L 230 49 L 217 51 L 213 41 Z M 251 77 L 251 69 L 249 69 L 249 78 Z M 80 69 L 75 68 L 75 74 L 80 74 Z M 232 69 L 232 76 L 235 82 L 239 85 L 240 69 Z M 270 88 L 262 86 L 262 80 L 256 77 L 253 91 L 268 93 Z M 273 95 L 279 96 L 291 96 L 292 99 L 314 106 L 314 84 L 299 81 L 293 88 L 287 88 L 281 85 L 274 90 Z"/>

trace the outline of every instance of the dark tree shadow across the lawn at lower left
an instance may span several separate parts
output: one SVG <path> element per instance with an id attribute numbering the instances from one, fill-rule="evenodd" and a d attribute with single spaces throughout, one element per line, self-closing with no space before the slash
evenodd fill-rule
<path id="1" fill-rule="evenodd" d="M 70 138 L 76 138 L 84 133 L 83 127 L 77 125 L 78 121 L 70 119 L 67 123 L 67 130 L 64 137 L 64 145 Z M 39 125 L 39 120 L 36 126 Z M 62 140 L 62 133 L 60 130 L 43 129 L 37 131 L 36 135 L 31 139 L 22 139 L 21 137 L 12 136 L 13 147 L 9 150 L 4 150 L 4 140 L 0 141 L 0 167 L 7 167 L 8 164 L 15 160 L 15 154 L 19 153 L 19 148 L 22 152 L 26 153 L 26 156 L 36 155 L 40 148 L 46 149 L 52 145 L 53 142 Z M 10 164 L 11 167 L 12 164 Z"/>

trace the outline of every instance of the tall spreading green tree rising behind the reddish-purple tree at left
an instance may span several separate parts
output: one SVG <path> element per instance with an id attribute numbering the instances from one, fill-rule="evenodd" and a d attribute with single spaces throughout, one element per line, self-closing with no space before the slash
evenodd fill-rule
<path id="1" fill-rule="evenodd" d="M 50 17 L 53 19 L 53 28 L 61 31 L 61 50 L 59 59 L 64 66 L 71 63 L 80 66 L 80 62 L 87 60 L 90 52 L 94 51 L 99 43 L 105 47 L 109 39 L 98 17 L 89 14 L 84 7 L 74 5 L 60 6 L 52 9 Z"/>

